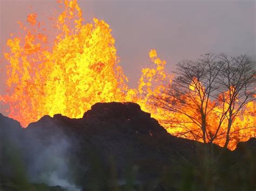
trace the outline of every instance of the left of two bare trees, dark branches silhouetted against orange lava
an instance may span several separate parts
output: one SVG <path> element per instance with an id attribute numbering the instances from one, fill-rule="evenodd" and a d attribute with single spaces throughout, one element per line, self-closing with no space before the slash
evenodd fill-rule
<path id="1" fill-rule="evenodd" d="M 198 61 L 184 60 L 178 63 L 178 76 L 173 80 L 164 96 L 153 97 L 159 107 L 186 116 L 186 123 L 198 126 L 199 131 L 187 128 L 194 139 L 201 138 L 204 143 L 211 142 L 214 133 L 207 133 L 207 116 L 216 106 L 210 103 L 218 89 L 217 76 L 221 65 L 214 54 L 205 54 Z M 171 123 L 175 119 L 171 119 Z M 208 131 L 209 132 L 209 131 Z"/>

